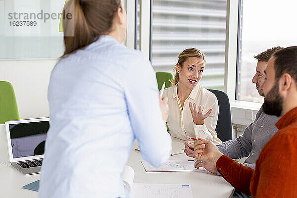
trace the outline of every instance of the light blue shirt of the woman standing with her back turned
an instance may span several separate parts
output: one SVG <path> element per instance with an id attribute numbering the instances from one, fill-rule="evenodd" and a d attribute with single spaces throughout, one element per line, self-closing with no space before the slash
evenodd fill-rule
<path id="1" fill-rule="evenodd" d="M 170 156 L 152 66 L 113 37 L 61 59 L 48 99 L 39 198 L 128 197 L 121 173 L 135 138 L 152 165 Z"/>

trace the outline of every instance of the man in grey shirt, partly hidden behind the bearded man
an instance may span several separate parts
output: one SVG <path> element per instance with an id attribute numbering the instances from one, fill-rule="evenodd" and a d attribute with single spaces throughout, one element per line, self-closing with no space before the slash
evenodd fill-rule
<path id="1" fill-rule="evenodd" d="M 252 78 L 252 82 L 255 83 L 256 89 L 260 96 L 264 96 L 261 86 L 265 81 L 264 70 L 266 64 L 271 57 L 271 55 L 280 49 L 281 47 L 267 49 L 262 51 L 260 54 L 254 56 L 258 60 L 256 67 L 256 74 Z M 256 114 L 254 122 L 250 123 L 245 129 L 243 135 L 236 139 L 229 140 L 222 144 L 217 145 L 217 148 L 224 154 L 228 155 L 233 159 L 247 157 L 244 162 L 245 166 L 249 166 L 255 169 L 256 160 L 259 157 L 261 149 L 270 140 L 270 138 L 278 131 L 275 123 L 279 120 L 279 117 L 267 115 L 262 111 L 262 107 Z M 185 152 L 188 156 L 193 156 L 193 145 L 190 145 L 192 141 L 185 143 Z M 196 167 L 204 167 L 209 172 L 218 174 L 216 171 L 215 164 L 210 162 L 204 163 L 197 161 L 195 163 Z M 246 194 L 235 190 L 233 198 L 249 198 Z"/>

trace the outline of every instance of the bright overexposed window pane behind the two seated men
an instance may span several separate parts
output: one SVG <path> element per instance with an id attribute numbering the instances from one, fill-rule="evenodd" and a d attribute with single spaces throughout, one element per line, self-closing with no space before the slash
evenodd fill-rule
<path id="1" fill-rule="evenodd" d="M 257 64 L 253 55 L 297 45 L 296 7 L 293 0 L 241 0 L 236 99 L 263 102 L 251 82 Z"/>

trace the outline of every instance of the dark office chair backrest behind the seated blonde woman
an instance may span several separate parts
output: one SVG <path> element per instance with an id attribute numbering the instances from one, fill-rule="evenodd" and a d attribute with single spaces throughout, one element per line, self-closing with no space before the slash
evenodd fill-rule
<path id="1" fill-rule="evenodd" d="M 218 138 L 222 142 L 232 140 L 232 120 L 229 98 L 225 92 L 219 90 L 209 90 L 212 92 L 219 103 L 219 117 L 215 131 L 218 134 Z"/>

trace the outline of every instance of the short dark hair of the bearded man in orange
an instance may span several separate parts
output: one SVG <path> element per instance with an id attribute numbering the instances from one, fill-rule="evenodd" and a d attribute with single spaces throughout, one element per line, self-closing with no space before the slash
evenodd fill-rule
<path id="1" fill-rule="evenodd" d="M 288 73 L 297 83 L 297 46 L 276 51 L 272 56 L 275 57 L 275 79 L 279 80 L 283 74 Z"/>

